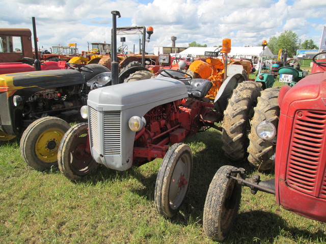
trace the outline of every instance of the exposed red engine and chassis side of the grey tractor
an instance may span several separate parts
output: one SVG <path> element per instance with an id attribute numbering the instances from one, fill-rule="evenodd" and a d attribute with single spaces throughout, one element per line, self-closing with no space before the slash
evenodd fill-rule
<path id="1" fill-rule="evenodd" d="M 148 111 L 144 115 L 146 127 L 135 135 L 133 164 L 139 166 L 155 158 L 164 158 L 169 144 L 181 142 L 197 133 L 205 127 L 205 123 L 208 127 L 212 126 L 222 117 L 216 116 L 212 109 L 211 103 L 181 99 Z"/>

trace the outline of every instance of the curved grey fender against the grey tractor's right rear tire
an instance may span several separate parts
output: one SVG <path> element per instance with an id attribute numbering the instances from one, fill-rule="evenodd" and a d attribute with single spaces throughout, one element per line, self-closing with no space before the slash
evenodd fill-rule
<path id="1" fill-rule="evenodd" d="M 214 107 L 218 112 L 223 113 L 228 105 L 228 99 L 231 97 L 233 89 L 244 80 L 246 78 L 242 74 L 234 74 L 223 82 L 214 100 Z"/>

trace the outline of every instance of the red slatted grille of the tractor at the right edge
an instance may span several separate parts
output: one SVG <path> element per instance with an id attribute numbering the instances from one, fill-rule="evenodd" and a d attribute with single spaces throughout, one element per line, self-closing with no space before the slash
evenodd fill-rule
<path id="1" fill-rule="evenodd" d="M 290 187 L 326 199 L 326 113 L 297 111 L 289 148 L 286 180 Z"/>

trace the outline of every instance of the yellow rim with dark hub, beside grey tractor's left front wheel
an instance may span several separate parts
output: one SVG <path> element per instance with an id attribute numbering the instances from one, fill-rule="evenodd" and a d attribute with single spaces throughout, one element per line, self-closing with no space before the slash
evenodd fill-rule
<path id="1" fill-rule="evenodd" d="M 36 141 L 36 156 L 45 163 L 56 162 L 58 148 L 65 132 L 59 129 L 49 129 L 43 132 Z"/>

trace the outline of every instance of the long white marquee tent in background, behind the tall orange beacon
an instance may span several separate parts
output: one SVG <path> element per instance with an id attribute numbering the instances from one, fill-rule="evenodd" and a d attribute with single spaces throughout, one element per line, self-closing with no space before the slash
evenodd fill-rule
<path id="1" fill-rule="evenodd" d="M 179 52 L 183 57 L 187 55 L 197 57 L 199 55 L 204 55 L 205 51 L 213 52 L 217 47 L 188 47 L 187 49 Z M 261 56 L 262 47 L 231 47 L 231 52 L 228 54 L 230 57 L 234 58 L 253 58 L 254 56 Z M 274 54 L 270 51 L 268 47 L 265 47 L 264 57 L 274 57 Z"/>

